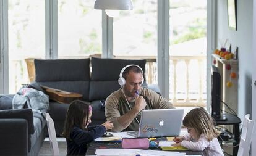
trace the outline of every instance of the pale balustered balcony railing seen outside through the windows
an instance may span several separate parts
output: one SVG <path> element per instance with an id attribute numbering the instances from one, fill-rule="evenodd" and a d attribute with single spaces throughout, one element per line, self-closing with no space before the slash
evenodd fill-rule
<path id="1" fill-rule="evenodd" d="M 146 59 L 145 79 L 148 84 L 157 84 L 156 57 L 115 57 L 118 59 Z M 206 57 L 171 56 L 169 76 L 169 100 L 176 106 L 206 105 Z M 25 61 L 12 60 L 12 89 L 17 91 L 22 83 L 29 83 Z M 20 72 L 18 72 L 20 71 Z M 15 93 L 12 91 L 12 93 Z"/>

